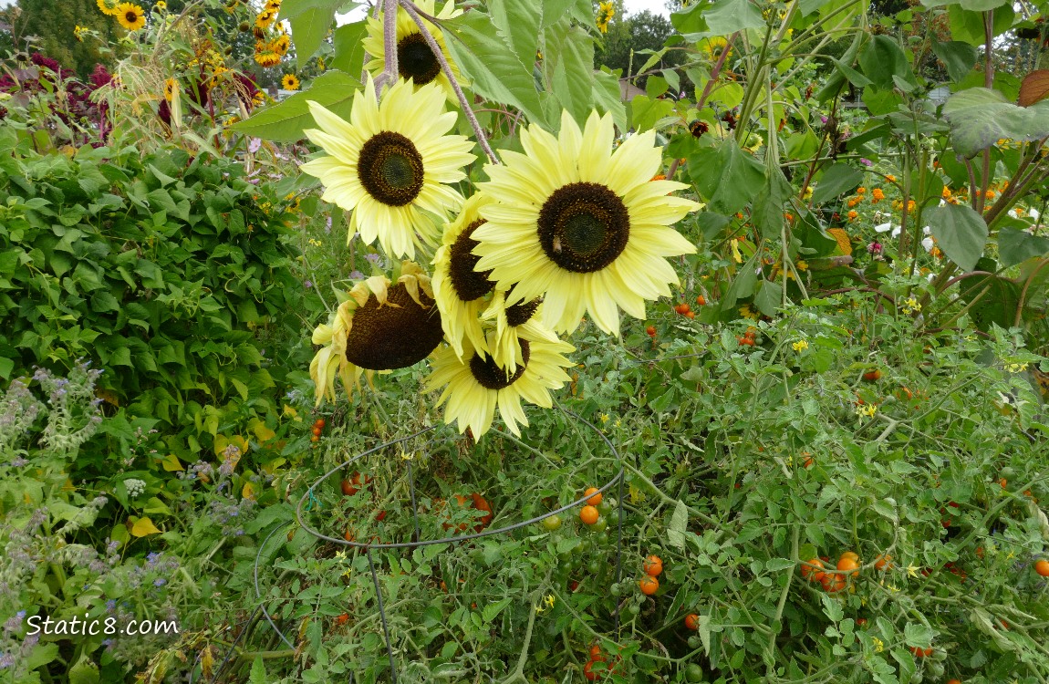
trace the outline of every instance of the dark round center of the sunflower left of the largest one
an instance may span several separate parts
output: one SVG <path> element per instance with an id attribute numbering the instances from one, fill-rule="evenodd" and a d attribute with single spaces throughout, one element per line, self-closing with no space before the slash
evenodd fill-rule
<path id="1" fill-rule="evenodd" d="M 401 133 L 382 131 L 361 146 L 357 174 L 369 195 L 389 207 L 404 207 L 423 189 L 423 157 Z"/>

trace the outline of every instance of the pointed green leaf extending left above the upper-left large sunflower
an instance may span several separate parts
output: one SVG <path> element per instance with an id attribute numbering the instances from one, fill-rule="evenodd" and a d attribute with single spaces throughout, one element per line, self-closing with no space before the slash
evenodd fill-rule
<path id="1" fill-rule="evenodd" d="M 306 128 L 316 128 L 306 104 L 313 100 L 324 105 L 343 119 L 349 117 L 354 93 L 360 82 L 342 71 L 325 71 L 314 80 L 313 86 L 297 92 L 287 100 L 266 107 L 257 114 L 233 125 L 233 130 L 278 143 L 294 143 L 303 137 Z"/>

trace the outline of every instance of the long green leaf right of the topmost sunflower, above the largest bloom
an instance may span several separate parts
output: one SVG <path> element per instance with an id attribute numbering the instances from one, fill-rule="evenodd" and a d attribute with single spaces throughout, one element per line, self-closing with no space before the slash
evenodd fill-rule
<path id="1" fill-rule="evenodd" d="M 472 81 L 474 91 L 517 107 L 532 123 L 545 125 L 532 64 L 535 54 L 521 59 L 492 31 L 492 19 L 476 9 L 444 22 L 448 49 Z"/>

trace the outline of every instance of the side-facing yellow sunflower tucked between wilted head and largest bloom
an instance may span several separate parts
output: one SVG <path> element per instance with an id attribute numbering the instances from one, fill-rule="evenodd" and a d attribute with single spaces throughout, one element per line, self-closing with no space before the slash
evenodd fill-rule
<path id="1" fill-rule="evenodd" d="M 478 193 L 466 200 L 458 218 L 445 228 L 441 248 L 433 257 L 433 298 L 441 309 L 445 339 L 459 358 L 464 337 L 474 349 L 488 349 L 479 316 L 489 305 L 488 295 L 495 283 L 488 274 L 474 271 L 479 257 L 473 254 L 477 241 L 470 237 L 485 222 L 477 211 L 486 199 Z"/>

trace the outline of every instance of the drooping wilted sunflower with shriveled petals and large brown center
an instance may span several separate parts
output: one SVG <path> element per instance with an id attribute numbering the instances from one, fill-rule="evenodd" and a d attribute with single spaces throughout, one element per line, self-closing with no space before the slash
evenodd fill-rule
<path id="1" fill-rule="evenodd" d="M 348 394 L 365 371 L 370 381 L 372 371 L 419 363 L 443 337 L 430 279 L 419 264 L 404 261 L 393 283 L 386 276 L 357 283 L 331 320 L 314 330 L 314 344 L 324 345 L 309 364 L 317 404 L 335 401 L 337 376 Z"/>

